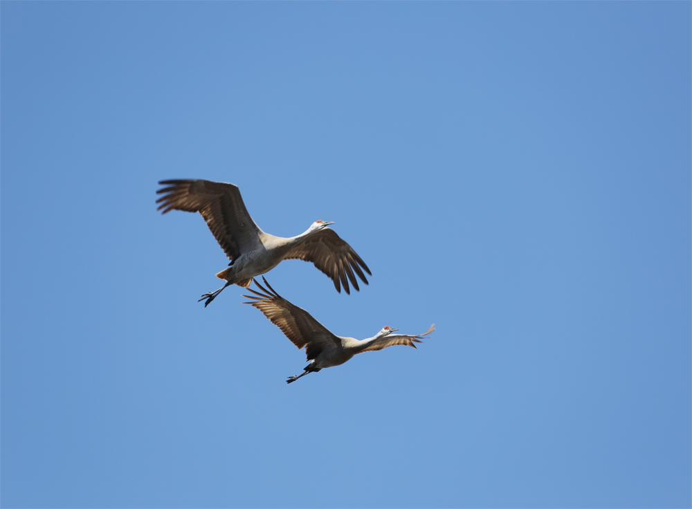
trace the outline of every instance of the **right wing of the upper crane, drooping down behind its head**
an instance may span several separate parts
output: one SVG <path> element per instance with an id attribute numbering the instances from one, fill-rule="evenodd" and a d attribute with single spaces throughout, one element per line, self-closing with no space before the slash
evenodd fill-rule
<path id="1" fill-rule="evenodd" d="M 353 287 L 360 290 L 354 272 L 363 279 L 365 284 L 367 284 L 367 279 L 365 279 L 363 270 L 372 276 L 370 269 L 365 265 L 365 261 L 331 228 L 325 228 L 305 237 L 301 242 L 291 247 L 284 259 L 311 261 L 318 269 L 331 277 L 336 291 L 339 293 L 341 293 L 341 284 L 343 284 L 346 293 L 351 293 L 348 286 L 349 279 Z"/>

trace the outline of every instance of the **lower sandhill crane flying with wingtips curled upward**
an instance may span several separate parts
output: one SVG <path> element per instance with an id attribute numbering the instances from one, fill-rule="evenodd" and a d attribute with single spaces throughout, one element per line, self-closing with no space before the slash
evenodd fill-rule
<path id="1" fill-rule="evenodd" d="M 257 288 L 262 290 L 262 292 L 248 288 L 255 296 L 243 295 L 243 297 L 253 299 L 253 302 L 244 302 L 243 304 L 250 304 L 262 311 L 264 316 L 280 328 L 295 346 L 298 346 L 298 349 L 302 349 L 304 346 L 307 360 L 312 361 L 304 367 L 304 371 L 300 375 L 289 376 L 289 379 L 286 380 L 286 383 L 289 384 L 295 382 L 301 376 L 307 375 L 307 373 L 343 364 L 356 355 L 356 353 L 381 350 L 394 344 L 408 344 L 408 346 L 415 348 L 416 345 L 414 343 L 421 343 L 423 336 L 435 331 L 435 324 L 432 324 L 428 331 L 419 335 L 391 335 L 392 332 L 399 329 L 384 326 L 379 333 L 367 338 L 367 340 L 341 337 L 331 333 L 327 327 L 315 320 L 310 313 L 281 297 L 269 286 L 264 276 L 262 276 L 262 279 L 268 289 L 253 279 Z"/>

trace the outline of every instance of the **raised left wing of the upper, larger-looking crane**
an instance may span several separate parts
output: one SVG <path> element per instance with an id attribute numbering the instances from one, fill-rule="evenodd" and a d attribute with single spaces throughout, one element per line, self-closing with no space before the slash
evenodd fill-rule
<path id="1" fill-rule="evenodd" d="M 242 252 L 255 250 L 262 245 L 262 230 L 240 196 L 237 185 L 202 180 L 160 181 L 168 187 L 158 189 L 163 194 L 156 203 L 161 214 L 171 210 L 199 212 L 226 256 L 233 260 Z"/>

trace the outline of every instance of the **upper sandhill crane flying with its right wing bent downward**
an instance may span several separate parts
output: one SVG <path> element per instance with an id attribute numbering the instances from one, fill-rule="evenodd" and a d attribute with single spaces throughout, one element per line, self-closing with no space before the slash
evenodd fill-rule
<path id="1" fill-rule="evenodd" d="M 327 228 L 333 221 L 315 221 L 310 228 L 296 237 L 275 237 L 264 233 L 255 224 L 240 196 L 237 185 L 202 180 L 160 181 L 163 194 L 156 203 L 163 209 L 199 212 L 221 249 L 230 259 L 229 267 L 217 274 L 226 284 L 214 292 L 205 293 L 199 301 L 208 306 L 226 286 L 250 286 L 253 277 L 265 274 L 286 259 L 311 261 L 331 277 L 336 291 L 343 284 L 346 293 L 348 281 L 356 290 L 358 282 L 354 272 L 367 284 L 363 270 L 372 276 L 365 262 L 334 230 Z M 361 267 L 363 270 L 361 270 Z"/>

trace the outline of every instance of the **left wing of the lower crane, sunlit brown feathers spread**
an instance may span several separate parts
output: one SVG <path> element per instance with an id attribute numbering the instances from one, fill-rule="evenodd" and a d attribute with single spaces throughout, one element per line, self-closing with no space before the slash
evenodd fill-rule
<path id="1" fill-rule="evenodd" d="M 320 351 L 330 343 L 337 345 L 341 344 L 340 338 L 315 320 L 310 313 L 295 306 L 295 304 L 291 304 L 284 299 L 284 297 L 276 293 L 274 288 L 269 286 L 266 282 L 264 276 L 262 276 L 262 280 L 268 289 L 264 288 L 261 284 L 257 283 L 257 280 L 253 279 L 257 288 L 262 290 L 262 292 L 257 292 L 252 288 L 248 288 L 256 297 L 253 295 L 243 295 L 243 297 L 253 299 L 253 302 L 244 302 L 243 304 L 250 304 L 262 311 L 264 316 L 271 320 L 271 323 L 280 328 L 282 333 L 284 333 L 295 346 L 298 346 L 299 349 L 307 345 L 305 351 L 308 360 L 316 358 Z"/>

